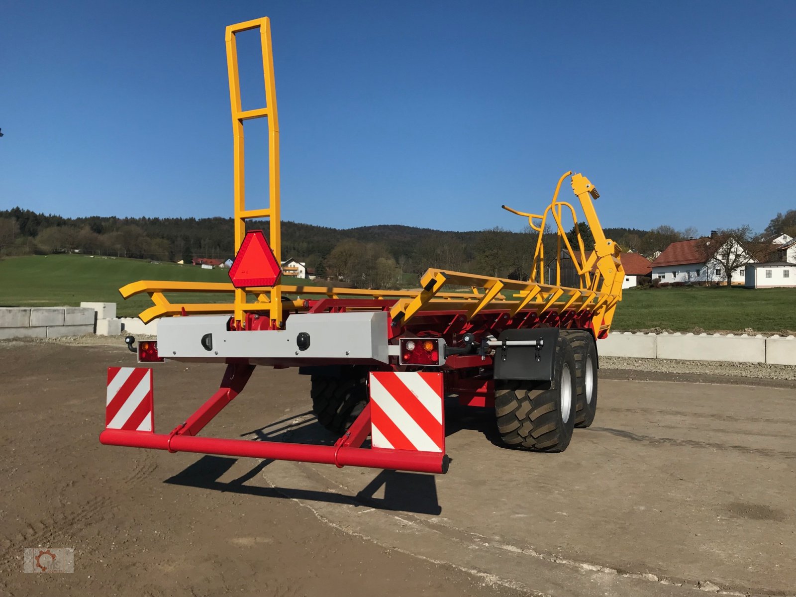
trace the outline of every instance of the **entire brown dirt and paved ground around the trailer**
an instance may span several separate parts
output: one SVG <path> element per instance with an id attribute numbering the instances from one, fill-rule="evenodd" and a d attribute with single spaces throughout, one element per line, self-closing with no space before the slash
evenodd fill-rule
<path id="1" fill-rule="evenodd" d="M 614 370 L 561 455 L 506 450 L 487 413 L 452 408 L 433 476 L 103 447 L 105 370 L 134 364 L 0 343 L 0 595 L 796 594 L 792 382 Z M 157 365 L 157 431 L 222 373 Z M 206 435 L 329 441 L 308 395 L 260 368 Z M 75 572 L 24 574 L 34 547 L 74 548 Z"/>

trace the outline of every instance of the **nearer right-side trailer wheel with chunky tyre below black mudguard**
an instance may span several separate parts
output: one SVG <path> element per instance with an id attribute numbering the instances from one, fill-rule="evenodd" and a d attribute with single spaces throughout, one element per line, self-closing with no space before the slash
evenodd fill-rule
<path id="1" fill-rule="evenodd" d="M 495 380 L 495 416 L 503 443 L 563 452 L 575 427 L 575 357 L 563 335 L 556 343 L 551 381 Z"/>

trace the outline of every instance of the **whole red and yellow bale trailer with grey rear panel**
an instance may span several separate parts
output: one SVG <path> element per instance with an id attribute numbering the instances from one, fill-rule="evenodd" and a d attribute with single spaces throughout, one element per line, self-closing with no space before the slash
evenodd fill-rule
<path id="1" fill-rule="evenodd" d="M 259 29 L 262 42 L 266 106 L 243 110 L 236 35 L 250 29 Z M 279 125 L 268 19 L 229 26 L 226 47 L 236 247 L 230 283 L 142 280 L 120 289 L 124 298 L 150 296 L 153 306 L 139 315 L 143 322 L 162 318 L 157 341 L 141 341 L 136 349 L 135 339 L 127 338 L 139 363 L 224 363 L 226 372 L 218 391 L 196 412 L 170 432 L 157 433 L 153 369 L 111 367 L 100 441 L 170 452 L 445 473 L 447 398 L 494 408 L 497 431 L 507 446 L 564 451 L 573 428 L 594 420 L 595 341 L 607 336 L 622 298 L 620 249 L 603 233 L 594 209 L 599 193 L 591 181 L 582 174 L 563 174 L 542 213 L 503 206 L 528 218 L 537 233 L 527 281 L 432 268 L 417 291 L 283 284 Z M 249 207 L 244 123 L 259 118 L 268 125 L 269 205 Z M 559 198 L 565 181 L 591 228 L 593 252 L 583 246 L 575 205 Z M 252 219 L 267 219 L 267 231 L 247 230 Z M 566 233 L 572 225 L 574 240 Z M 557 234 L 552 259 L 543 244 L 548 226 Z M 576 284 L 562 285 L 564 261 L 574 267 Z M 191 293 L 220 293 L 229 300 L 192 302 Z M 298 367 L 311 376 L 318 422 L 339 435 L 333 446 L 198 435 L 243 392 L 258 366 Z"/>

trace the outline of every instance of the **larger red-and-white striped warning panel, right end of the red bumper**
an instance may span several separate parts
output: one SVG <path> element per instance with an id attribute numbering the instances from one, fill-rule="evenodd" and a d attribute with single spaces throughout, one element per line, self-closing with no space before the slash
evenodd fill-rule
<path id="1" fill-rule="evenodd" d="M 445 451 L 442 373 L 370 374 L 373 447 Z"/>

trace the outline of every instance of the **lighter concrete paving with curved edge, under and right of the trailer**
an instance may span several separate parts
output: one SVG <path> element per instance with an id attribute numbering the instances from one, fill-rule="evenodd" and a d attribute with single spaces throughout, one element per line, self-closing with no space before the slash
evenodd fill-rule
<path id="1" fill-rule="evenodd" d="M 338 529 L 534 594 L 790 591 L 792 390 L 599 389 L 595 425 L 562 454 L 501 447 L 489 413 L 460 408 L 447 416 L 447 475 L 274 462 L 263 477 Z M 314 419 L 296 415 L 283 441 L 317 442 Z M 243 468 L 230 478 L 249 478 Z"/>

